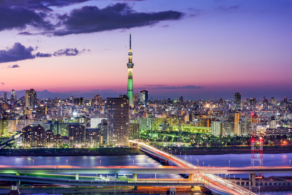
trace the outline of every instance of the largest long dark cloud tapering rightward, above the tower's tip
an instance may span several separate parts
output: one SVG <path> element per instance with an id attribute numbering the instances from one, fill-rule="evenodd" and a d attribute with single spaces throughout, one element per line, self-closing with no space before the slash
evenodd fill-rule
<path id="1" fill-rule="evenodd" d="M 178 20 L 183 13 L 177 11 L 162 11 L 157 13 L 142 13 L 133 11 L 125 3 L 117 3 L 99 9 L 96 6 L 84 6 L 73 9 L 69 14 L 60 15 L 63 30 L 46 31 L 49 36 L 63 36 L 100 32 L 114 29 L 129 29 L 132 27 L 151 26 L 163 20 Z"/>

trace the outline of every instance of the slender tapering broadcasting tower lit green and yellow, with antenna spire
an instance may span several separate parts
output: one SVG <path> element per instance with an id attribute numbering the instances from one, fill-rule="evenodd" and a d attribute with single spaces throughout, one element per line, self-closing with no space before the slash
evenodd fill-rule
<path id="1" fill-rule="evenodd" d="M 131 49 L 131 32 L 130 32 L 130 49 L 129 49 L 129 63 L 127 63 L 128 67 L 128 91 L 127 91 L 127 96 L 129 98 L 129 106 L 134 108 L 134 99 L 133 99 L 133 66 L 134 64 L 132 63 L 132 49 Z"/>

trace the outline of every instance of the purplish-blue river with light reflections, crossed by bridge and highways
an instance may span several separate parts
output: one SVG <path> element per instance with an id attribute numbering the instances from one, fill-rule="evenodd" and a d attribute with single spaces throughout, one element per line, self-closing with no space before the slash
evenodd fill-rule
<path id="1" fill-rule="evenodd" d="M 250 154 L 223 154 L 223 155 L 176 155 L 182 159 L 196 165 L 197 160 L 200 166 L 229 166 L 230 167 L 246 167 L 250 166 Z M 292 160 L 292 153 L 286 154 L 264 154 L 264 166 L 283 166 L 289 165 Z M 124 166 L 133 165 L 140 167 L 162 167 L 160 163 L 146 155 L 137 156 L 0 156 L 0 165 L 11 165 L 13 167 L 32 166 L 32 165 L 68 165 L 80 167 L 94 166 Z M 291 176 L 292 173 L 286 174 L 265 174 L 265 177 L 272 175 Z M 219 175 L 220 176 L 220 175 Z M 138 174 L 141 178 L 153 178 L 154 174 Z M 234 177 L 231 176 L 230 179 Z M 235 177 L 248 178 L 247 174 L 237 174 Z M 177 174 L 157 174 L 157 178 L 181 178 Z M 189 195 L 194 194 L 190 193 Z M 206 194 L 206 193 L 202 193 Z M 292 195 L 292 191 L 266 191 L 261 195 Z"/>

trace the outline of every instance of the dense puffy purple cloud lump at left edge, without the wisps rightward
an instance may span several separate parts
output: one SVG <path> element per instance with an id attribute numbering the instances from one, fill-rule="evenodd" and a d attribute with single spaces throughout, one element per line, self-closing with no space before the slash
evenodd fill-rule
<path id="1" fill-rule="evenodd" d="M 12 48 L 0 50 L 0 63 L 33 59 L 35 56 L 32 55 L 32 51 L 34 49 L 31 46 L 26 48 L 20 43 L 15 43 Z"/>

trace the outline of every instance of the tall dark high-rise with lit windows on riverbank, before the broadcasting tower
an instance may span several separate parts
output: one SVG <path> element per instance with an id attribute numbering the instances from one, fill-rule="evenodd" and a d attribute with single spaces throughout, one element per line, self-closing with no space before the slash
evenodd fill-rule
<path id="1" fill-rule="evenodd" d="M 107 145 L 126 146 L 128 141 L 129 98 L 126 95 L 107 98 Z"/>

